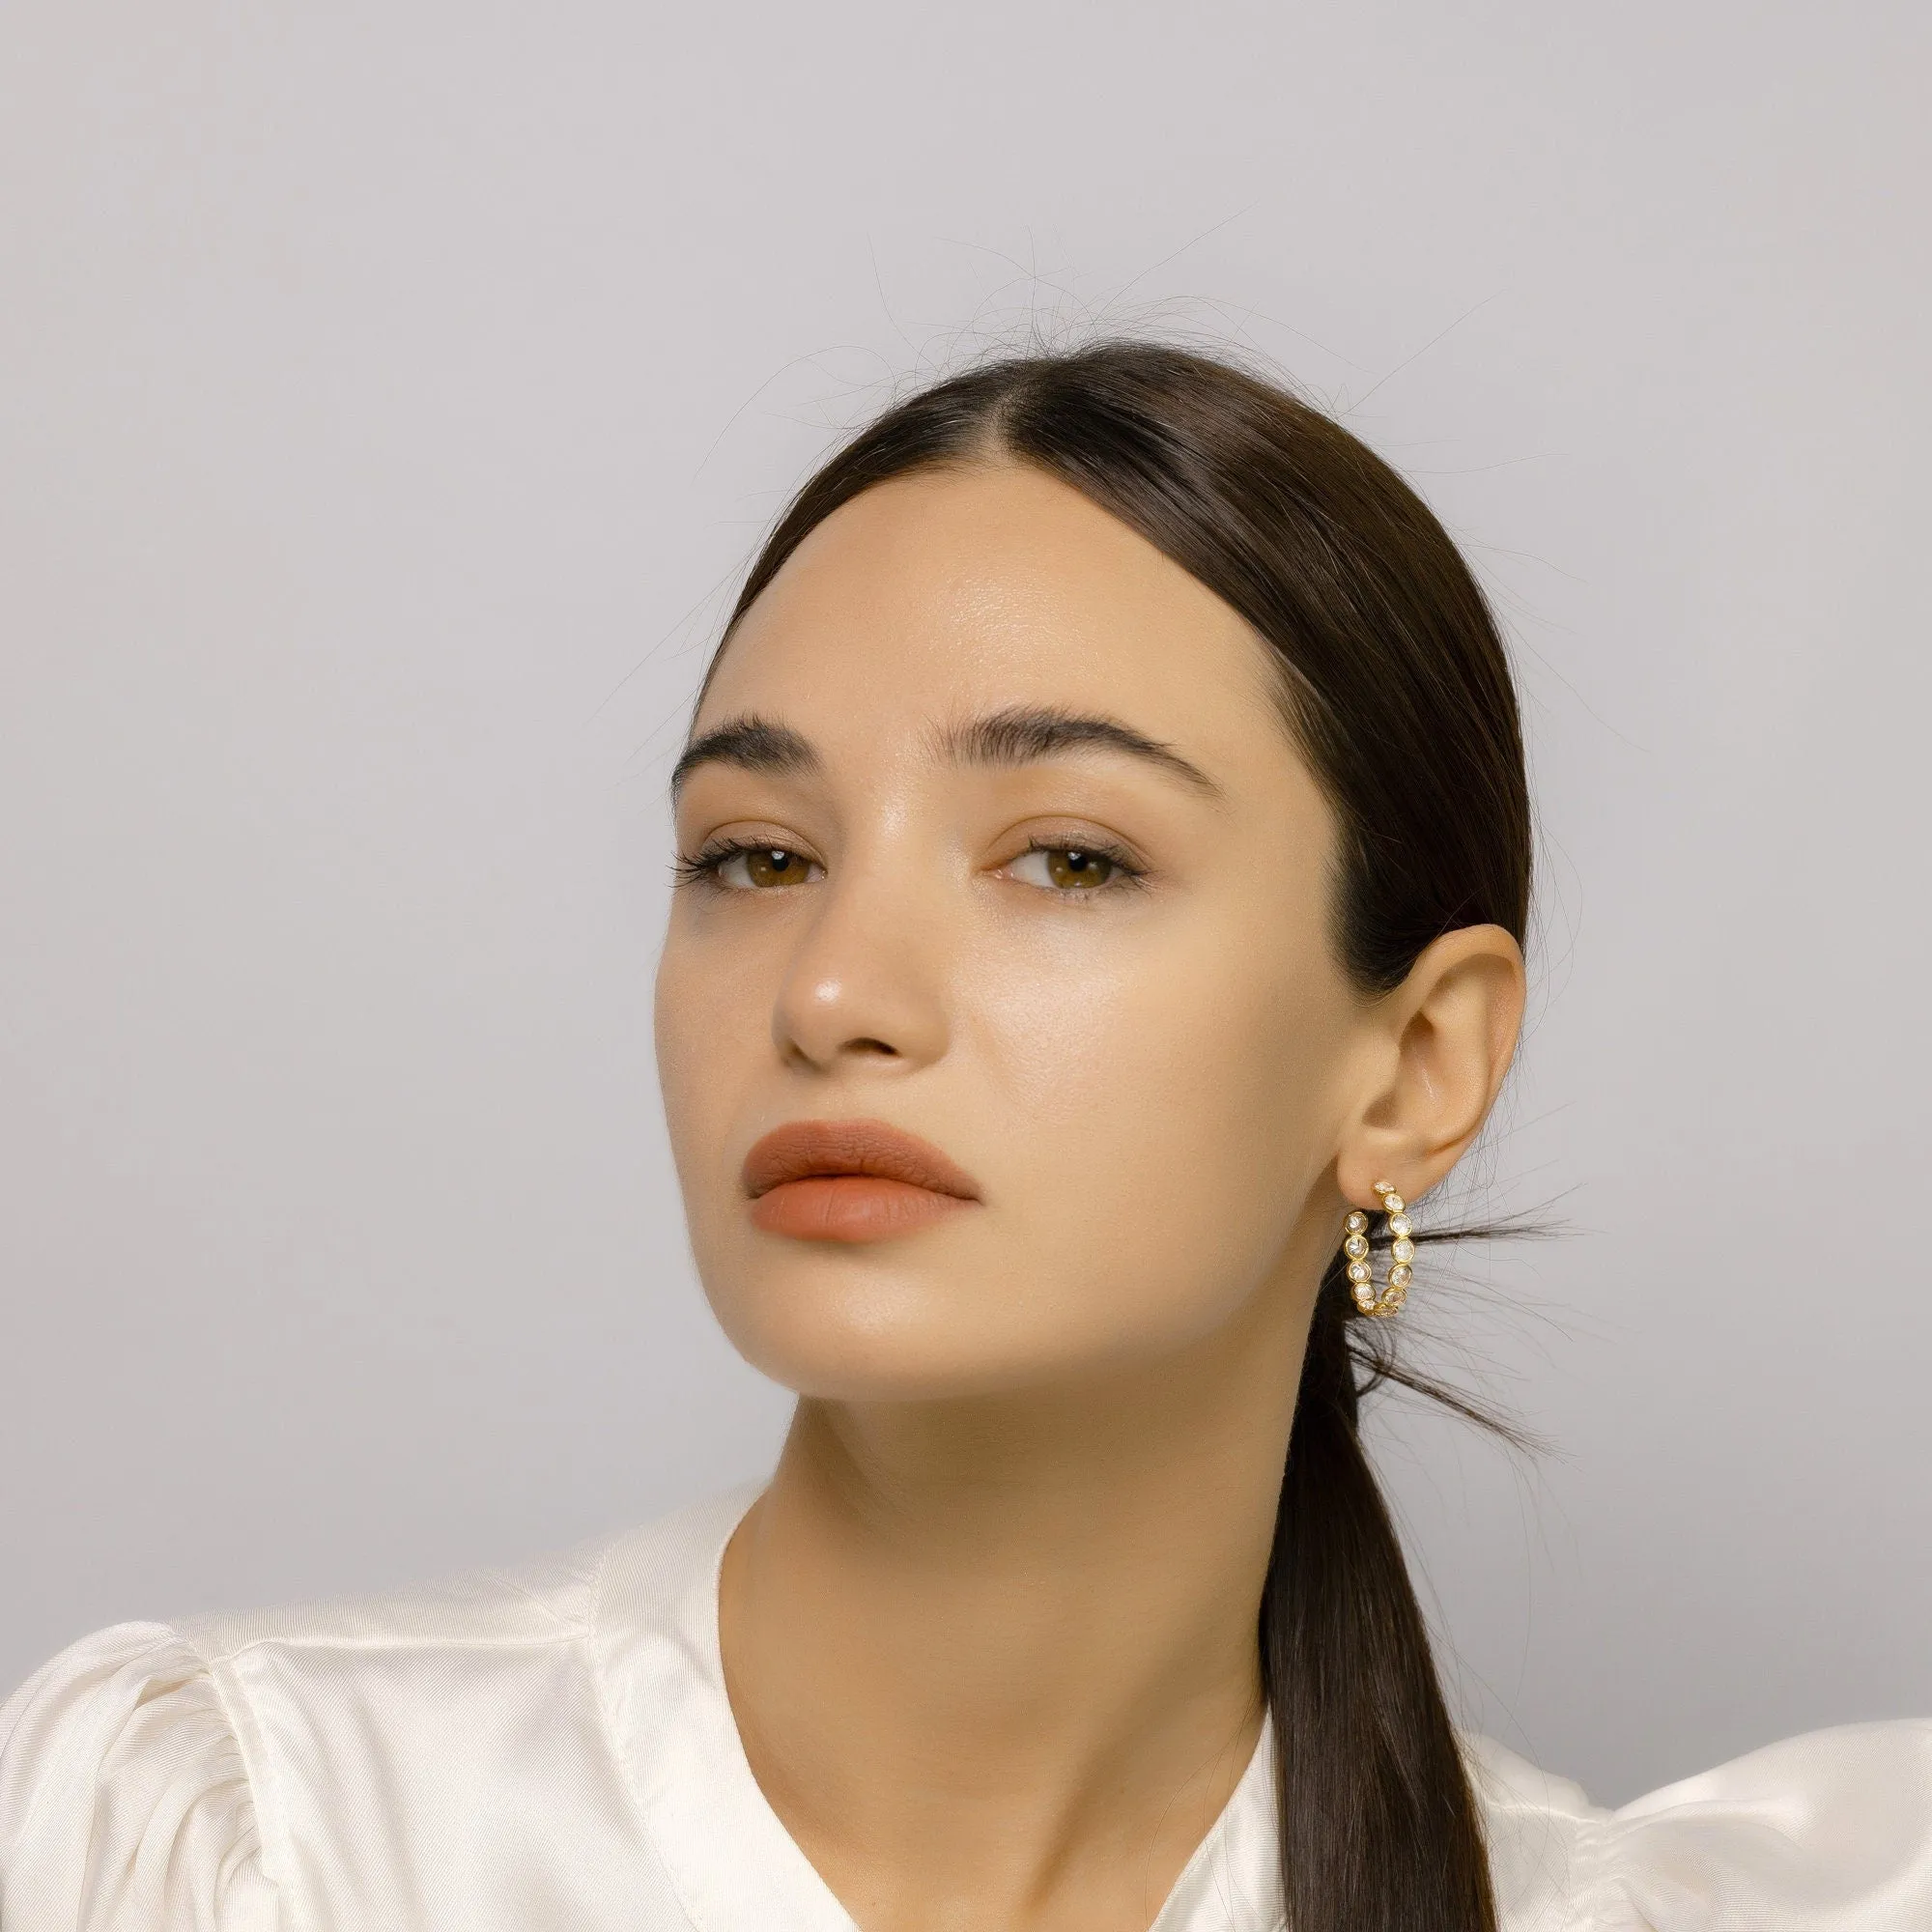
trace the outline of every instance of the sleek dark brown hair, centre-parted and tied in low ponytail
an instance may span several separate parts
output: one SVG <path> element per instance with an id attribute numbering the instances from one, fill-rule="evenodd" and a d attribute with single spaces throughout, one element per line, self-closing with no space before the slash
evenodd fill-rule
<path id="1" fill-rule="evenodd" d="M 1335 951 L 1364 993 L 1399 985 L 1453 927 L 1526 937 L 1522 736 L 1476 580 L 1381 458 L 1215 357 L 1101 342 L 1010 355 L 910 396 L 792 498 L 724 638 L 840 504 L 974 462 L 1032 464 L 1072 485 L 1271 647 L 1283 719 L 1341 829 Z M 1385 1240 L 1381 1217 L 1372 1238 Z M 1316 1298 L 1260 1613 L 1289 1924 L 1495 1932 L 1478 1806 L 1358 1434 L 1378 1381 L 1441 1391 L 1397 1368 L 1385 1335 L 1364 1333 L 1376 1327 L 1356 1316 L 1337 1254 Z"/>

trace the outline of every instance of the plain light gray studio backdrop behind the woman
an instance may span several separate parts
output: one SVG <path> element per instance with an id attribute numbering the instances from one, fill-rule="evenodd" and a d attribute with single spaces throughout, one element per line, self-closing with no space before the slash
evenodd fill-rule
<path id="1" fill-rule="evenodd" d="M 1275 357 L 1517 641 L 1538 991 L 1385 1439 L 1621 1801 L 1932 1710 L 1924 10 L 15 6 L 0 1677 L 755 1472 L 657 1115 L 667 753 L 831 431 Z M 1447 1206 L 1437 1209 L 1447 1211 Z"/>

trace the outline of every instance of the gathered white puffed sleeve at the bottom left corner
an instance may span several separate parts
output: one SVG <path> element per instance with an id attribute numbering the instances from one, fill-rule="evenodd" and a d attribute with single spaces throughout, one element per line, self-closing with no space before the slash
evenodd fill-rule
<path id="1" fill-rule="evenodd" d="M 0 1926 L 276 1926 L 242 1745 L 168 1625 L 83 1636 L 0 1706 Z"/>

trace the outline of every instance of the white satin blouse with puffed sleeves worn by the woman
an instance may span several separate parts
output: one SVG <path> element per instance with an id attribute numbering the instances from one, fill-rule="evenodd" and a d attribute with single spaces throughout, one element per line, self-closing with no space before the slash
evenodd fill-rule
<path id="1" fill-rule="evenodd" d="M 390 1598 L 122 1623 L 0 1708 L 0 1932 L 854 1932 L 752 1777 L 755 1488 Z M 1932 1932 L 1932 1721 L 1604 1810 L 1466 1741 L 1507 1932 Z M 1151 1932 L 1281 1932 L 1264 1729 Z"/>

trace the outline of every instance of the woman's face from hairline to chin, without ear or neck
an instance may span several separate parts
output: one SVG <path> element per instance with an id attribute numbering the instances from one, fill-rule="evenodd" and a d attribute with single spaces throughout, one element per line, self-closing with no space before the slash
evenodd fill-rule
<path id="1" fill-rule="evenodd" d="M 906 477 L 746 614 L 694 748 L 715 732 L 657 1051 L 752 1364 L 831 1399 L 1007 1391 L 1306 1302 L 1360 1003 L 1331 811 L 1225 603 L 1039 471 Z M 767 1138 L 796 1122 L 827 1128 Z M 823 1179 L 893 1167 L 891 1130 L 954 1192 Z"/>

